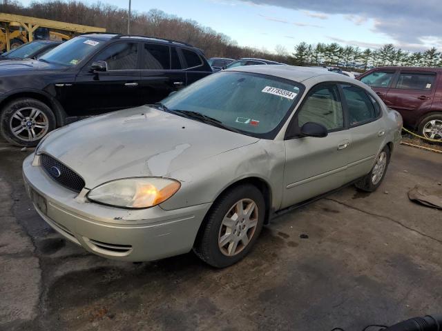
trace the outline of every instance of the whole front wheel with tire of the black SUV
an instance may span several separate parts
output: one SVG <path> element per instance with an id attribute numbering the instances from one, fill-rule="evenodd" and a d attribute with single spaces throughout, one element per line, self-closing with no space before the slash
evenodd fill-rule
<path id="1" fill-rule="evenodd" d="M 45 103 L 31 98 L 10 101 L 0 113 L 0 134 L 16 146 L 37 146 L 56 124 L 52 110 Z"/>

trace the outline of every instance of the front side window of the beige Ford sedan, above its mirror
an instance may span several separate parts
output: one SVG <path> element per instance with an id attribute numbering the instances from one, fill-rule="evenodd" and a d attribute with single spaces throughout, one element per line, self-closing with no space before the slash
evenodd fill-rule
<path id="1" fill-rule="evenodd" d="M 344 127 L 343 108 L 336 85 L 314 88 L 302 104 L 298 113 L 298 126 L 307 122 L 319 123 L 327 130 L 339 130 Z"/>

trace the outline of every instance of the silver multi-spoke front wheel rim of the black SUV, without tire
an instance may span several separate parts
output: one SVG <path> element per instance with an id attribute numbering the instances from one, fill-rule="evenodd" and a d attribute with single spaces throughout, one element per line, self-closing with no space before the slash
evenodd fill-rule
<path id="1" fill-rule="evenodd" d="M 34 107 L 15 110 L 9 122 L 10 131 L 22 141 L 36 141 L 48 133 L 49 120 L 46 114 Z"/>

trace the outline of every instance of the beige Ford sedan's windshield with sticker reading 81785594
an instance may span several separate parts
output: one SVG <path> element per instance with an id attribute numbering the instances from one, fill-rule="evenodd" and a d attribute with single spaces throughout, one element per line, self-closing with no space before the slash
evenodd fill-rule
<path id="1" fill-rule="evenodd" d="M 164 99 L 169 110 L 198 112 L 254 137 L 273 139 L 301 85 L 248 72 L 220 72 Z"/>

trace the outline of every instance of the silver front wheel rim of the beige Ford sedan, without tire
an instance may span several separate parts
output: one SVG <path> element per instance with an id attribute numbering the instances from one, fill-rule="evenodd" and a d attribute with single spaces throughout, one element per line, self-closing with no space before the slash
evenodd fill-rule
<path id="1" fill-rule="evenodd" d="M 258 206 L 251 199 L 241 199 L 231 206 L 222 220 L 218 247 L 222 254 L 233 257 L 247 247 L 258 226 Z"/>

